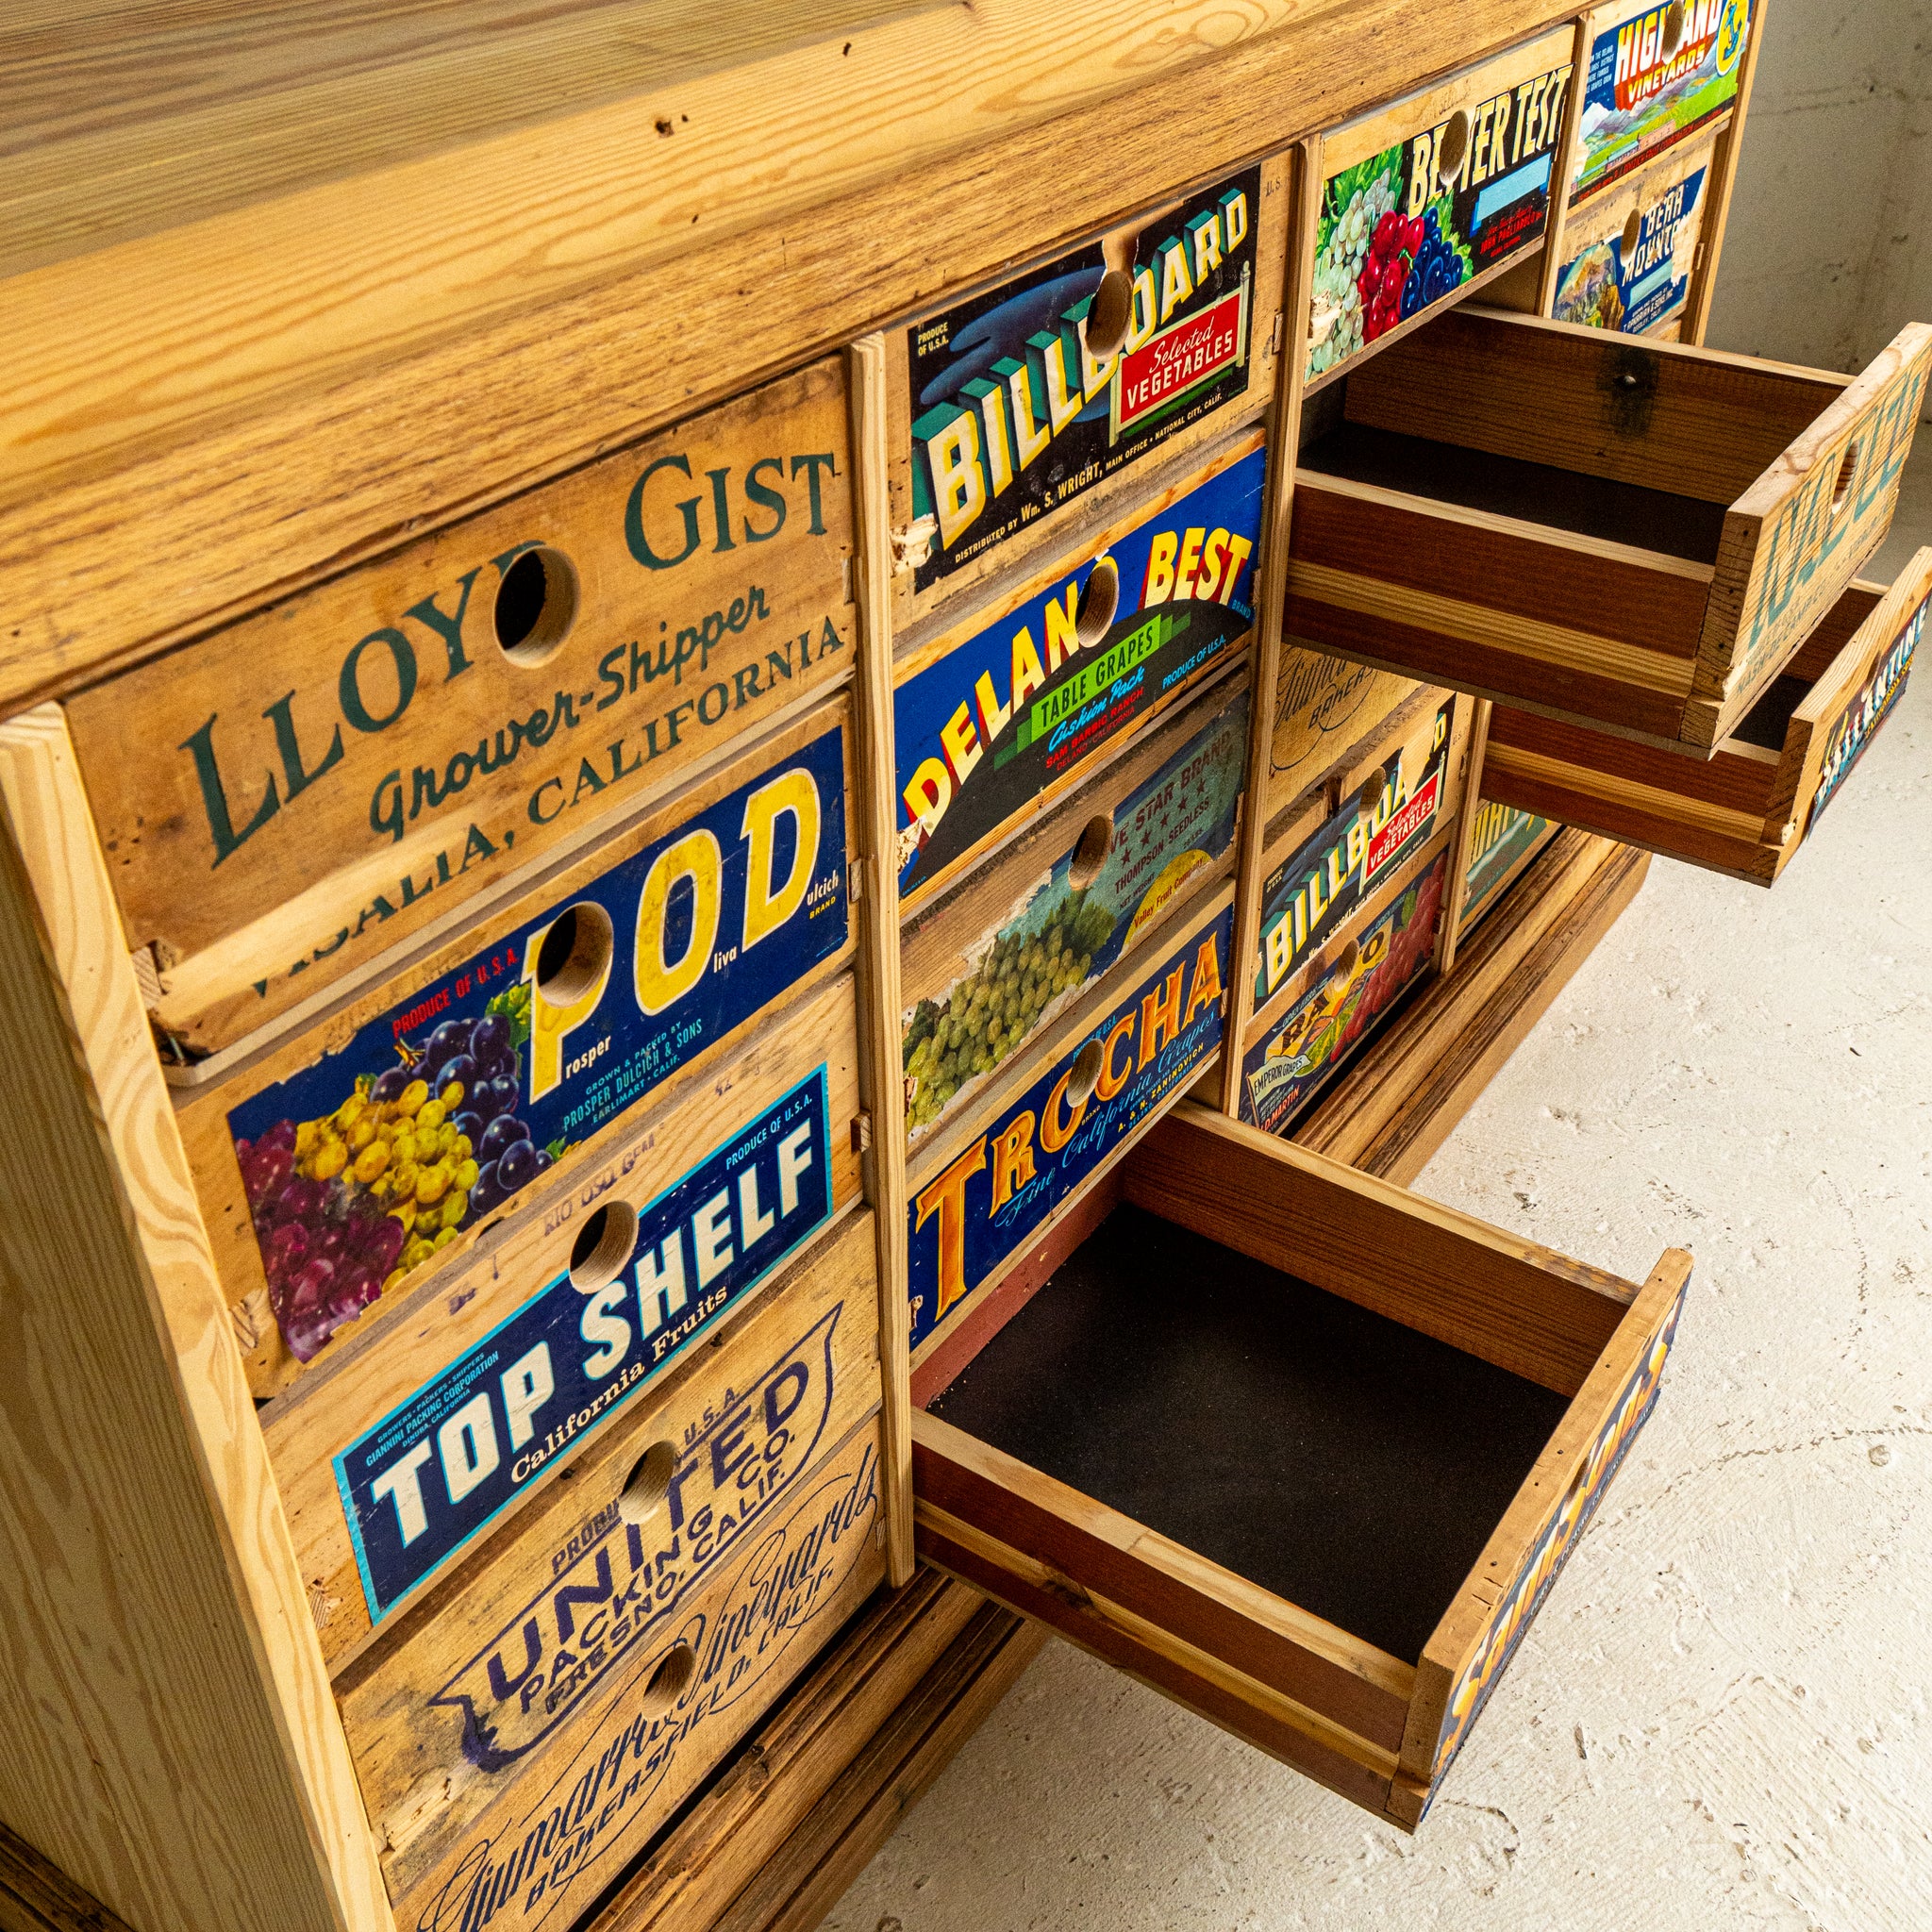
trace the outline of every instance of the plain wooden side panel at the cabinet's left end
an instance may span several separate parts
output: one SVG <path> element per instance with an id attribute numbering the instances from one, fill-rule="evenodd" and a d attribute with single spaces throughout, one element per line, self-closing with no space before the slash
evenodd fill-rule
<path id="1" fill-rule="evenodd" d="M 0 726 L 0 1814 L 141 1932 L 384 1932 L 58 711 Z"/>

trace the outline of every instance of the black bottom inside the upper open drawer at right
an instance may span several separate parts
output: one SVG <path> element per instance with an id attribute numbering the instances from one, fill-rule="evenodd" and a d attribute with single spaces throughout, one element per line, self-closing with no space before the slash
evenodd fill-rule
<path id="1" fill-rule="evenodd" d="M 1347 417 L 1302 448 L 1300 468 L 1692 564 L 1716 564 L 1723 537 L 1719 502 Z"/>

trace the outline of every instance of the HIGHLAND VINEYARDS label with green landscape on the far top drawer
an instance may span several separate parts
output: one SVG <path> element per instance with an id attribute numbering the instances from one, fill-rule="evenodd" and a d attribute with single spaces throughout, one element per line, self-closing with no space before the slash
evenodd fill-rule
<path id="1" fill-rule="evenodd" d="M 1669 0 L 1590 15 L 1571 195 L 1629 174 L 1737 100 L 1750 0 Z"/>

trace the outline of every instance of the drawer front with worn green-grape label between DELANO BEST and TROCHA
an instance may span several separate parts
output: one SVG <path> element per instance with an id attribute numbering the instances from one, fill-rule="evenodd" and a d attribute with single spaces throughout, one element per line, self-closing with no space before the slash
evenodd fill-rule
<path id="1" fill-rule="evenodd" d="M 1227 858 L 1246 755 L 1248 684 L 1231 676 L 906 925 L 914 1146 L 972 1105 L 1036 1028 L 1144 945 Z"/>

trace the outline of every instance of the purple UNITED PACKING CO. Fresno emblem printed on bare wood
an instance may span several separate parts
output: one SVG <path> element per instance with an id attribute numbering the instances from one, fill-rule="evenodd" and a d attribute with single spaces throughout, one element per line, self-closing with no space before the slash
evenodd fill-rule
<path id="1" fill-rule="evenodd" d="M 462 1718 L 462 1754 L 504 1772 L 659 1642 L 719 1565 L 790 1501 L 833 1424 L 833 1308 L 692 1424 L 663 1507 L 626 1522 L 609 1503 L 558 1549 L 543 1588 L 427 1698 Z M 873 1393 L 873 1401 L 877 1395 Z"/>

